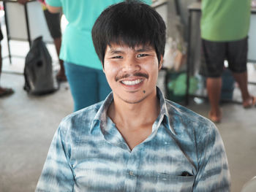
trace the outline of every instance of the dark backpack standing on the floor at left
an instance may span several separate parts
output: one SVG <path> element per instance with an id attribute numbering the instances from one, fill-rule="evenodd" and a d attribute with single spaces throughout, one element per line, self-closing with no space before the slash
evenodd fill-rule
<path id="1" fill-rule="evenodd" d="M 53 93 L 59 88 L 53 78 L 52 58 L 42 37 L 34 39 L 26 55 L 24 77 L 24 90 L 34 95 Z"/>

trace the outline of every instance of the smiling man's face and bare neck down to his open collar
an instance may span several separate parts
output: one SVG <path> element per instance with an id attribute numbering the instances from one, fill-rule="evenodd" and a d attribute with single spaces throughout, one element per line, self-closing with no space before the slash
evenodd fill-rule
<path id="1" fill-rule="evenodd" d="M 152 45 L 106 47 L 104 72 L 114 98 L 108 116 L 131 149 L 151 134 L 159 115 L 156 83 L 161 66 L 162 56 L 158 61 Z"/>

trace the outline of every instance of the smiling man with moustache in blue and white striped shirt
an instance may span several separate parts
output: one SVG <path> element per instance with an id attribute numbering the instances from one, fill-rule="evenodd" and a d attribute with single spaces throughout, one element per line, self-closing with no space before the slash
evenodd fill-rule
<path id="1" fill-rule="evenodd" d="M 229 191 L 217 128 L 156 86 L 165 30 L 140 2 L 102 12 L 91 33 L 112 93 L 62 120 L 36 191 Z"/>

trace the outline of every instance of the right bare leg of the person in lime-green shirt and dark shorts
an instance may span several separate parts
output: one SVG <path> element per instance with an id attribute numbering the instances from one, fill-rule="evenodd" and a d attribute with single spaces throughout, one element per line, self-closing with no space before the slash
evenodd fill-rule
<path id="1" fill-rule="evenodd" d="M 252 104 L 252 96 L 248 91 L 248 77 L 247 72 L 235 73 L 233 72 L 233 77 L 236 82 L 238 82 L 239 88 L 241 90 L 241 96 L 243 99 L 243 106 L 248 107 L 249 104 Z"/>

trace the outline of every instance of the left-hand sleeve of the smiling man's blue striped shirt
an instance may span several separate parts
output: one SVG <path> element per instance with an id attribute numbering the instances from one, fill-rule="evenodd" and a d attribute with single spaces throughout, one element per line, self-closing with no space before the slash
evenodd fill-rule
<path id="1" fill-rule="evenodd" d="M 42 174 L 39 177 L 36 191 L 73 191 L 74 176 L 67 157 L 67 149 L 61 138 L 61 127 L 58 128 L 51 142 Z"/>

